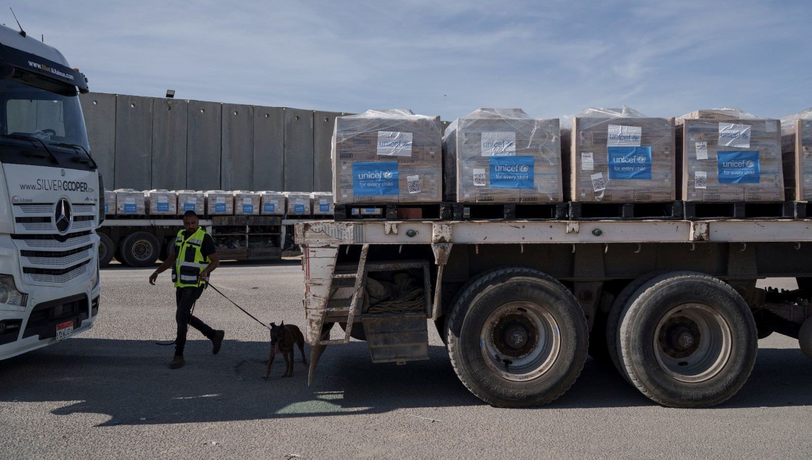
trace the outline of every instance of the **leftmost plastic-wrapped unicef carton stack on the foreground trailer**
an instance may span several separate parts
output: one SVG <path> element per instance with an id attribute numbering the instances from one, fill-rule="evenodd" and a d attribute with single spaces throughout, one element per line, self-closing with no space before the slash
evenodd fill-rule
<path id="1" fill-rule="evenodd" d="M 330 154 L 335 204 L 440 201 L 441 131 L 439 117 L 411 110 L 336 117 Z"/>

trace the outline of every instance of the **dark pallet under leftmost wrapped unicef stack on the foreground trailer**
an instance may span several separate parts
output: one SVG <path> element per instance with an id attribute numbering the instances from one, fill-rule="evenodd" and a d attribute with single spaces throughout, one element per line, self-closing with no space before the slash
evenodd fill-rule
<path id="1" fill-rule="evenodd" d="M 447 221 L 451 220 L 451 203 L 336 204 L 333 217 L 336 221 Z"/>

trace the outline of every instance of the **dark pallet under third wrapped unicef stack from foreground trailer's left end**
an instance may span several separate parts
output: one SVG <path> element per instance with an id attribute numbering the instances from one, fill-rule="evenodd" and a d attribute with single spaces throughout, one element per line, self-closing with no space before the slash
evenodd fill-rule
<path id="1" fill-rule="evenodd" d="M 683 218 L 682 201 L 655 203 L 581 203 L 569 204 L 569 218 L 573 221 L 645 221 L 652 219 L 679 220 Z"/>

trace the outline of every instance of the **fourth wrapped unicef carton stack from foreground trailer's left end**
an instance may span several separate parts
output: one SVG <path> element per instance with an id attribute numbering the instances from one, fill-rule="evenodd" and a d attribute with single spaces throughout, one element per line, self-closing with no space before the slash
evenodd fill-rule
<path id="1" fill-rule="evenodd" d="M 685 114 L 676 123 L 682 200 L 784 200 L 779 120 L 714 109 Z"/>

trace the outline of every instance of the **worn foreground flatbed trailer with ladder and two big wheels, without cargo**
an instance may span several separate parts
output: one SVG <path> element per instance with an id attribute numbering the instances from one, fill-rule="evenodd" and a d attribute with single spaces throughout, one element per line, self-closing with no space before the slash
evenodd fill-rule
<path id="1" fill-rule="evenodd" d="M 538 406 L 587 355 L 664 406 L 714 406 L 745 384 L 758 338 L 812 358 L 812 220 L 310 221 L 309 381 L 326 346 L 373 362 L 428 359 L 433 320 L 462 383 L 495 406 Z M 756 281 L 795 277 L 799 289 Z M 339 323 L 344 332 L 330 339 Z"/>

